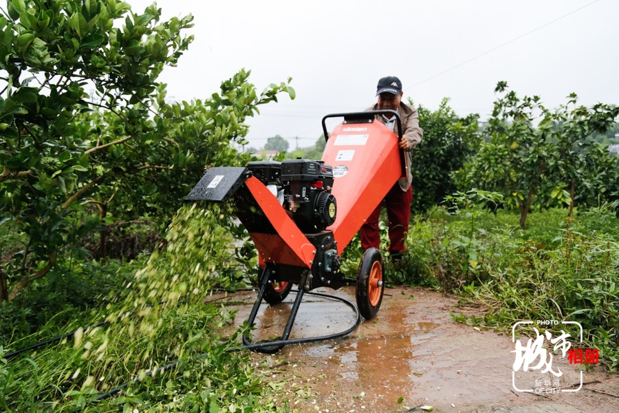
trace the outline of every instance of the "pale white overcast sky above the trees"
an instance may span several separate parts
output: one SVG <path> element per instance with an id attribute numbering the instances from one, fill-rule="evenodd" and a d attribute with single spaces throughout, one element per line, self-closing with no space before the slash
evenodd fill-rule
<path id="1" fill-rule="evenodd" d="M 152 3 L 127 0 L 134 12 Z M 365 109 L 398 76 L 404 97 L 488 118 L 498 81 L 546 107 L 619 103 L 619 1 L 159 0 L 164 18 L 193 14 L 195 35 L 162 81 L 177 100 L 208 98 L 239 69 L 259 91 L 292 77 L 296 99 L 249 121 L 250 145 L 279 134 L 313 145 L 325 114 Z M 294 139 L 298 137 L 298 140 Z"/>

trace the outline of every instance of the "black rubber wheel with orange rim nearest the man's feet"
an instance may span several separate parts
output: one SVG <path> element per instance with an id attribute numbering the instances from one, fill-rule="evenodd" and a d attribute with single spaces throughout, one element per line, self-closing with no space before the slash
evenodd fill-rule
<path id="1" fill-rule="evenodd" d="M 368 248 L 359 264 L 356 290 L 359 313 L 365 319 L 369 320 L 376 316 L 383 293 L 382 255 L 376 248 Z"/>

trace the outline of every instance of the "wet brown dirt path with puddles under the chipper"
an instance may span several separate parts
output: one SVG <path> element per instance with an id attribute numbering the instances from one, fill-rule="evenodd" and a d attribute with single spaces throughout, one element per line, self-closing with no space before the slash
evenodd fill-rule
<path id="1" fill-rule="evenodd" d="M 322 292 L 355 302 L 354 286 Z M 247 319 L 256 295 L 223 299 L 238 310 L 237 324 Z M 255 340 L 281 335 L 293 299 L 291 294 L 282 304 L 261 306 Z M 351 335 L 286 346 L 277 354 L 252 353 L 252 360 L 265 383 L 271 381 L 272 393 L 297 412 L 422 412 L 430 407 L 454 413 L 619 412 L 618 374 L 594 366 L 581 378 L 561 352 L 552 361 L 561 377 L 540 370 L 514 372 L 512 337 L 453 321 L 450 312 L 479 310 L 457 301 L 423 288 L 388 288 L 376 318 L 362 321 Z M 291 338 L 329 335 L 354 322 L 353 310 L 342 302 L 305 295 Z M 286 385 L 276 387 L 279 381 Z M 556 390 L 518 391 L 545 386 Z"/>

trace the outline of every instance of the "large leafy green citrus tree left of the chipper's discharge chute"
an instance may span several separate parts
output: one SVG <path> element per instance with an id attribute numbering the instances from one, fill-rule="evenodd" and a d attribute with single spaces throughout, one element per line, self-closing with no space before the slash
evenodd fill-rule
<path id="1" fill-rule="evenodd" d="M 205 100 L 168 103 L 158 76 L 193 40 L 117 0 L 10 0 L 0 16 L 0 302 L 105 222 L 164 226 L 208 165 L 241 162 L 263 93 L 241 70 Z M 290 79 L 289 79 L 290 81 Z M 102 219 L 105 218 L 105 222 Z"/>

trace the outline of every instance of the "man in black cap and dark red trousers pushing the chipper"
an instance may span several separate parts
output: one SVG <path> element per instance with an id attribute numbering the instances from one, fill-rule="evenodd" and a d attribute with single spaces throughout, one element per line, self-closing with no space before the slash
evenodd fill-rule
<path id="1" fill-rule="evenodd" d="M 409 231 L 411 218 L 411 202 L 413 202 L 413 175 L 411 174 L 411 150 L 421 142 L 424 131 L 419 127 L 417 109 L 402 102 L 402 83 L 395 76 L 387 76 L 378 81 L 376 96 L 378 103 L 366 110 L 390 109 L 398 112 L 402 120 L 402 140 L 400 148 L 404 150 L 406 167 L 409 174 L 406 178 L 400 178 L 384 197 L 389 219 L 389 255 L 392 260 L 397 259 L 406 251 L 406 233 Z M 376 120 L 398 134 L 395 116 L 377 115 Z M 381 205 L 371 213 L 365 224 L 361 226 L 361 246 L 365 250 L 370 247 L 377 248 L 380 244 L 378 233 L 378 218 L 380 217 Z"/>

